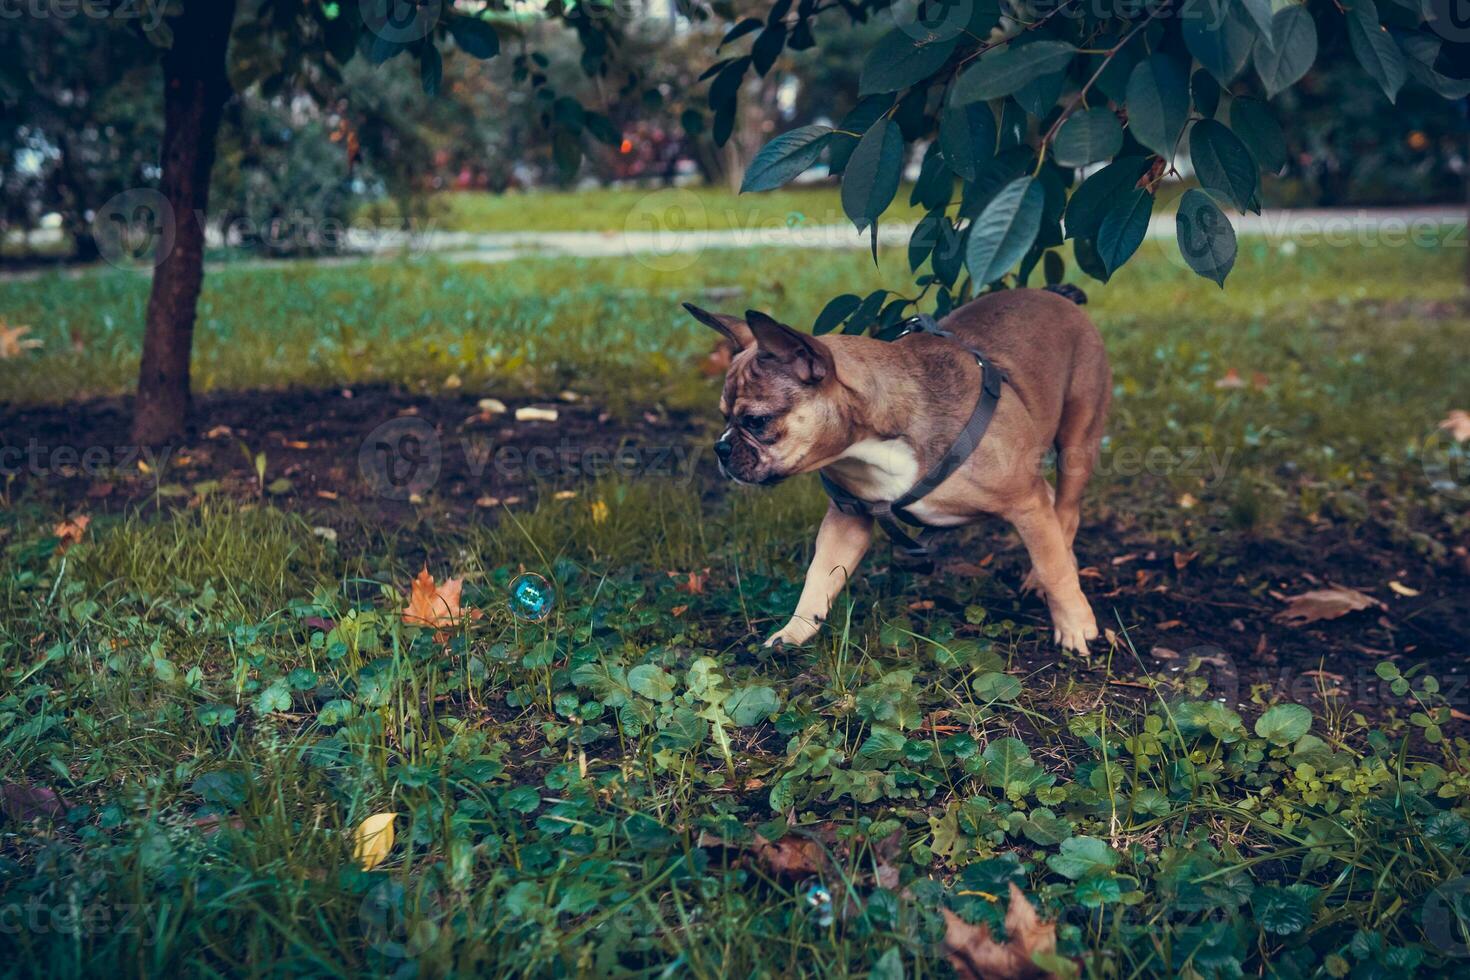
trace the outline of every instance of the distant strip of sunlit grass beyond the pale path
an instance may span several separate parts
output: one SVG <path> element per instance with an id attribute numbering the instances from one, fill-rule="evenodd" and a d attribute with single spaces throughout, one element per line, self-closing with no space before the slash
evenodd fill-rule
<path id="1" fill-rule="evenodd" d="M 923 209 L 908 207 L 908 188 L 885 220 L 913 222 Z M 391 210 L 368 209 L 362 220 L 378 223 Z M 425 228 L 453 232 L 535 231 L 754 231 L 791 225 L 847 225 L 835 184 L 732 194 L 719 185 L 686 188 L 607 188 L 585 191 L 457 191 L 429 203 Z"/>

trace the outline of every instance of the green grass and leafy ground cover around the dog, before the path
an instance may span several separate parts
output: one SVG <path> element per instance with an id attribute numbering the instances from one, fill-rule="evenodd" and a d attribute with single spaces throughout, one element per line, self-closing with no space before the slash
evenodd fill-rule
<path id="1" fill-rule="evenodd" d="M 1091 284 L 1117 392 L 1089 514 L 1200 563 L 1302 519 L 1398 527 L 1395 561 L 1432 576 L 1470 532 L 1419 458 L 1463 398 L 1460 262 L 1252 239 L 1225 291 L 1157 251 Z M 723 306 L 806 325 L 831 294 L 901 288 L 900 263 L 223 269 L 198 378 L 456 375 L 713 414 L 710 335 L 678 300 L 734 288 Z M 0 363 L 0 394 L 126 391 L 144 289 L 0 285 L 46 341 Z M 1245 385 L 1219 386 L 1232 369 Z M 1232 455 L 1220 479 L 1127 464 L 1150 447 Z M 1220 701 L 1207 660 L 1148 667 L 1132 627 L 1091 663 L 1038 660 L 994 579 L 876 566 L 819 642 L 763 651 L 813 486 L 579 491 L 498 522 L 431 497 L 398 525 L 218 494 L 98 513 L 65 554 L 51 498 L 7 497 L 0 973 L 945 976 L 938 909 L 1000 932 L 1013 882 L 1063 974 L 1463 971 L 1470 742 L 1411 651 L 1367 661 L 1380 686 L 1351 702 Z M 425 563 L 478 613 L 406 624 Z M 557 592 L 545 620 L 513 608 L 525 570 Z M 395 835 L 365 868 L 373 814 Z"/>

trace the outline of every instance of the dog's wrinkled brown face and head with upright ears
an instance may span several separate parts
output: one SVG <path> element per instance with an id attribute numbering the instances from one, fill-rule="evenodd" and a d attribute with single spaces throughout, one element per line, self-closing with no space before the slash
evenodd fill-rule
<path id="1" fill-rule="evenodd" d="M 754 310 L 739 320 L 685 309 L 738 350 L 720 394 L 726 420 L 714 442 L 720 472 L 739 483 L 769 485 L 831 458 L 829 444 L 842 425 L 831 398 L 826 345 Z"/>

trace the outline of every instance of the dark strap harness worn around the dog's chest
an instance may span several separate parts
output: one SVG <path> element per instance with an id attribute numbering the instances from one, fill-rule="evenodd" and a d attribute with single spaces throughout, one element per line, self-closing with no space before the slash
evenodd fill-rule
<path id="1" fill-rule="evenodd" d="M 945 329 L 941 329 L 933 317 L 922 313 L 906 323 L 906 329 L 900 336 L 906 334 L 933 334 L 935 336 L 954 335 Z M 923 478 L 908 488 L 908 491 L 895 501 L 866 501 L 860 497 L 854 497 L 847 492 L 842 486 L 836 483 L 825 472 L 819 473 L 822 478 L 822 486 L 826 489 L 828 497 L 832 498 L 832 504 L 853 517 L 867 516 L 876 520 L 883 530 L 888 532 L 889 541 L 894 547 L 901 550 L 907 557 L 919 561 L 922 567 L 932 569 L 933 560 L 929 552 L 929 547 L 925 539 L 928 535 L 923 530 L 919 536 L 910 535 L 904 530 L 898 522 L 904 522 L 913 527 L 920 527 L 926 530 L 939 530 L 932 525 L 926 525 L 913 514 L 908 513 L 908 507 L 914 502 L 928 497 L 939 483 L 950 479 L 950 476 L 960 469 L 960 464 L 970 458 L 975 453 L 975 447 L 980 444 L 985 436 L 985 430 L 991 428 L 991 419 L 995 417 L 995 406 L 1001 400 L 1001 385 L 1007 381 L 1005 372 L 989 361 L 983 354 L 980 354 L 973 347 L 964 347 L 975 357 L 975 363 L 980 366 L 980 395 L 975 401 L 975 411 L 970 413 L 970 420 L 964 423 L 960 429 L 960 435 L 954 438 L 954 444 L 948 448 L 944 457 L 935 463 L 933 469 L 923 475 Z"/>

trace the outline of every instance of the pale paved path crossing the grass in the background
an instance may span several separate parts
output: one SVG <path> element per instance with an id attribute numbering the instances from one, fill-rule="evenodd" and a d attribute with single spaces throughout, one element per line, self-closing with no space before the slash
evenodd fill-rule
<path id="1" fill-rule="evenodd" d="M 650 195 L 657 198 L 659 195 Z M 525 257 L 632 259 L 654 269 L 678 270 L 694 264 L 698 256 L 719 248 L 867 248 L 867 234 L 851 225 L 763 223 L 753 228 L 722 231 L 679 231 L 684 223 L 678 204 L 657 200 L 629 215 L 625 231 L 589 232 L 390 232 L 359 235 L 357 254 L 306 260 L 323 266 L 362 262 L 403 262 L 435 256 L 448 262 L 500 263 Z M 1260 215 L 1233 215 L 1236 235 L 1295 239 L 1304 245 L 1466 245 L 1466 209 L 1292 209 Z M 911 223 L 879 226 L 878 241 L 888 248 L 903 248 L 913 232 Z M 1172 213 L 1155 215 L 1150 238 L 1175 237 Z M 294 262 L 237 260 L 212 263 L 212 269 L 284 269 Z M 68 276 L 88 275 L 106 266 L 71 267 Z M 140 267 L 143 273 L 148 269 Z M 34 279 L 47 270 L 0 272 L 0 281 Z"/>

